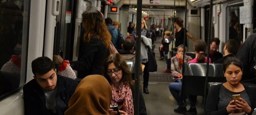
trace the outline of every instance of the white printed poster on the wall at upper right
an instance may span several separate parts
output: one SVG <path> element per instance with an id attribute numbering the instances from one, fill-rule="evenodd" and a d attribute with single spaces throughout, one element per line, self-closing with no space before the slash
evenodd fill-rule
<path id="1" fill-rule="evenodd" d="M 241 6 L 240 10 L 240 24 L 252 23 L 252 6 Z"/>

